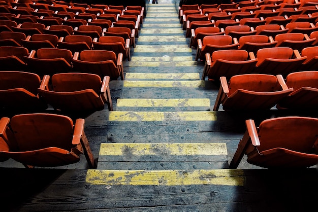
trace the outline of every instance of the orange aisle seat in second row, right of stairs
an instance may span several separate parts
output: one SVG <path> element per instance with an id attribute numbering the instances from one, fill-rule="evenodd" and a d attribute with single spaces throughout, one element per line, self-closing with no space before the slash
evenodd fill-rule
<path id="1" fill-rule="evenodd" d="M 225 111 L 270 110 L 293 92 L 281 75 L 244 74 L 231 77 L 229 83 L 226 77 L 220 77 L 220 82 L 213 111 L 217 111 L 220 104 Z"/>

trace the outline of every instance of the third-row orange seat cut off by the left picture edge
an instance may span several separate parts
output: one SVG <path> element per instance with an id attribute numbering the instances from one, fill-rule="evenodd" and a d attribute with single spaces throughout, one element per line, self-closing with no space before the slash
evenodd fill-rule
<path id="1" fill-rule="evenodd" d="M 26 70 L 26 60 L 29 51 L 24 47 L 0 47 L 0 70 Z"/>

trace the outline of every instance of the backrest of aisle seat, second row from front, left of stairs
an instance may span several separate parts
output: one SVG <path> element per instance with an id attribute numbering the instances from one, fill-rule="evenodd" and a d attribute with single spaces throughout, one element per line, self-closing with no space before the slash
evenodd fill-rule
<path id="1" fill-rule="evenodd" d="M 53 91 L 72 92 L 93 89 L 97 94 L 101 91 L 100 76 L 88 73 L 62 73 L 52 76 Z"/>

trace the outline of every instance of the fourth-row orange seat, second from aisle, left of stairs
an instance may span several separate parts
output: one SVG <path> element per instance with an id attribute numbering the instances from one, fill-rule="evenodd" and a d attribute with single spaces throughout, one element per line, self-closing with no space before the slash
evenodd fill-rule
<path id="1" fill-rule="evenodd" d="M 61 37 L 57 42 L 57 48 L 68 49 L 73 54 L 75 52 L 81 52 L 84 50 L 90 50 L 92 47 L 92 38 L 89 36 L 82 35 L 71 35 L 65 38 Z"/>

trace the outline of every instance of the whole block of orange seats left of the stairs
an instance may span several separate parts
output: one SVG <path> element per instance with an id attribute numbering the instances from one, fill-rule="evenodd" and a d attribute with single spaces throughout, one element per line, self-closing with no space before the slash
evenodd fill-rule
<path id="1" fill-rule="evenodd" d="M 84 118 L 105 104 L 113 110 L 109 82 L 124 79 L 122 60 L 130 60 L 143 10 L 0 2 L 0 108 L 30 113 L 0 120 L 6 132 L 0 138 L 0 161 L 60 166 L 76 163 L 84 154 L 89 167 L 96 168 Z M 49 106 L 63 115 L 46 113 Z"/>

